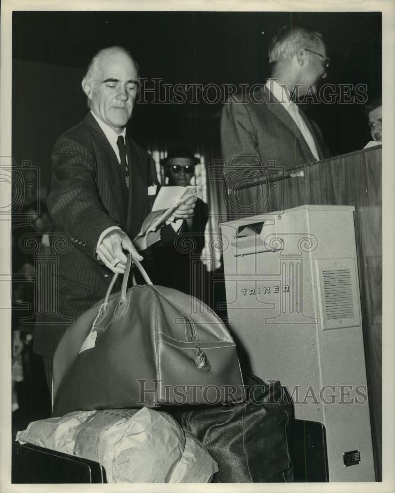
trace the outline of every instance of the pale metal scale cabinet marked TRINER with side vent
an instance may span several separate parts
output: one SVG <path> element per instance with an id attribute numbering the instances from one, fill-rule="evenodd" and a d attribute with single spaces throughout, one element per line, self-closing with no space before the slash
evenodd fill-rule
<path id="1" fill-rule="evenodd" d="M 240 359 L 323 423 L 329 481 L 375 481 L 354 207 L 305 205 L 221 224 Z"/>

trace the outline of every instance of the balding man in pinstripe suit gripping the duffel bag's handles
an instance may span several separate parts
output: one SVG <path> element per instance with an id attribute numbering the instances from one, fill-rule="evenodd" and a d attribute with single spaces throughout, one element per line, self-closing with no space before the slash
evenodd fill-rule
<path id="1" fill-rule="evenodd" d="M 71 247 L 59 254 L 53 286 L 57 314 L 39 317 L 33 349 L 44 358 L 48 385 L 59 340 L 70 323 L 105 295 L 112 272 L 125 271 L 131 238 L 159 189 L 151 156 L 126 136 L 138 88 L 138 66 L 125 49 L 111 47 L 92 59 L 82 81 L 90 112 L 52 150 L 48 210 Z M 191 218 L 196 198 L 177 210 Z"/>

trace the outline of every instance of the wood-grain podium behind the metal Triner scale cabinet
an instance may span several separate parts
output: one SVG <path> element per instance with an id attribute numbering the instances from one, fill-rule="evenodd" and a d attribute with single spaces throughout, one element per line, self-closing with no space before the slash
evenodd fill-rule
<path id="1" fill-rule="evenodd" d="M 382 464 L 382 149 L 381 146 L 284 170 L 268 163 L 256 186 L 228 189 L 228 218 L 301 205 L 355 207 L 362 326 L 377 481 Z"/>

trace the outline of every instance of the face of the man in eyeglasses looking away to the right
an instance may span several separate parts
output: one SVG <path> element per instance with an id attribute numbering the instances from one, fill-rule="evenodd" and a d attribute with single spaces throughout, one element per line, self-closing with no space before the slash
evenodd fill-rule
<path id="1" fill-rule="evenodd" d="M 300 84 L 300 96 L 306 94 L 307 91 L 311 92 L 311 90 L 316 93 L 319 81 L 327 76 L 324 65 L 327 52 L 323 43 L 319 42 L 313 45 L 310 48 L 312 51 L 307 50 L 307 48 L 305 50 L 303 66 L 300 67 L 299 71 L 298 83 Z"/>

